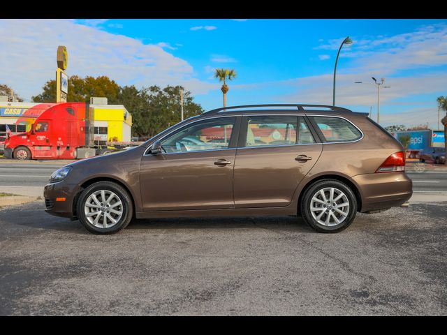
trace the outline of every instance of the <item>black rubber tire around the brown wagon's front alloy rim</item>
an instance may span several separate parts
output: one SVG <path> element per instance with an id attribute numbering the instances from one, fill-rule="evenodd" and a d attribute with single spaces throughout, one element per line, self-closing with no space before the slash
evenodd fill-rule
<path id="1" fill-rule="evenodd" d="M 85 202 L 88 200 L 91 194 L 101 190 L 111 191 L 115 193 L 115 195 L 117 195 L 119 200 L 121 200 L 122 202 L 122 207 L 121 205 L 119 205 L 118 207 L 118 210 L 122 211 L 122 216 L 119 218 L 117 223 L 108 228 L 96 227 L 87 219 L 87 216 L 85 214 Z M 101 201 L 101 204 L 103 203 L 103 200 L 101 198 L 99 198 L 98 200 Z M 127 225 L 129 225 L 129 223 L 131 222 L 133 217 L 133 201 L 131 195 L 129 195 L 129 192 L 127 192 L 126 189 L 124 189 L 119 184 L 116 184 L 112 181 L 98 181 L 97 183 L 91 184 L 90 186 L 85 188 L 84 191 L 82 191 L 80 197 L 78 198 L 78 203 L 76 204 L 76 211 L 78 213 L 79 221 L 89 232 L 92 232 L 94 234 L 115 234 L 116 232 L 119 232 L 119 230 L 126 228 Z M 99 218 L 99 221 L 101 221 L 101 218 Z M 105 219 L 105 221 L 107 225 L 108 219 Z M 99 224 L 99 222 L 97 224 Z"/>

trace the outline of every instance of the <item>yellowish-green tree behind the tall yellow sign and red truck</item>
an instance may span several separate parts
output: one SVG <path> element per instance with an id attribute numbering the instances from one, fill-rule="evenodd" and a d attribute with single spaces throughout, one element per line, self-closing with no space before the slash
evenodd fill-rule
<path id="1" fill-rule="evenodd" d="M 56 80 L 48 80 L 43 86 L 43 92 L 37 96 L 33 96 L 35 103 L 54 103 L 56 102 Z M 109 103 L 117 103 L 119 85 L 115 80 L 109 77 L 91 77 L 85 78 L 78 75 L 72 75 L 68 78 L 68 102 L 88 103 L 91 96 L 104 96 L 108 98 Z"/>

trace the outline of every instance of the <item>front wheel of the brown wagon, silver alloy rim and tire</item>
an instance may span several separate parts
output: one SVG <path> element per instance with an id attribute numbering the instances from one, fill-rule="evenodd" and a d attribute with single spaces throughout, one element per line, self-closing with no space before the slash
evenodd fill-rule
<path id="1" fill-rule="evenodd" d="M 129 193 L 112 181 L 98 181 L 82 191 L 76 206 L 79 221 L 94 234 L 115 234 L 133 216 Z"/>

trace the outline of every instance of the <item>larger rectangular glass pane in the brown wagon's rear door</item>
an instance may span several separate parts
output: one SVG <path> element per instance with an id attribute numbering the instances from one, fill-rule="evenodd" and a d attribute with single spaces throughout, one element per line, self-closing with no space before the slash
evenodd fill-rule
<path id="1" fill-rule="evenodd" d="M 245 147 L 268 147 L 296 144 L 298 117 L 248 117 Z"/>

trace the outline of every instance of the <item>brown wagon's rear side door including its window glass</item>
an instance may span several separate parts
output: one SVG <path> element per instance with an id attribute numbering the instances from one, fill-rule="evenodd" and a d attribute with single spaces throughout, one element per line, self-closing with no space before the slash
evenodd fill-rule
<path id="1" fill-rule="evenodd" d="M 290 204 L 321 154 L 312 131 L 304 116 L 243 117 L 233 174 L 235 207 Z"/>

